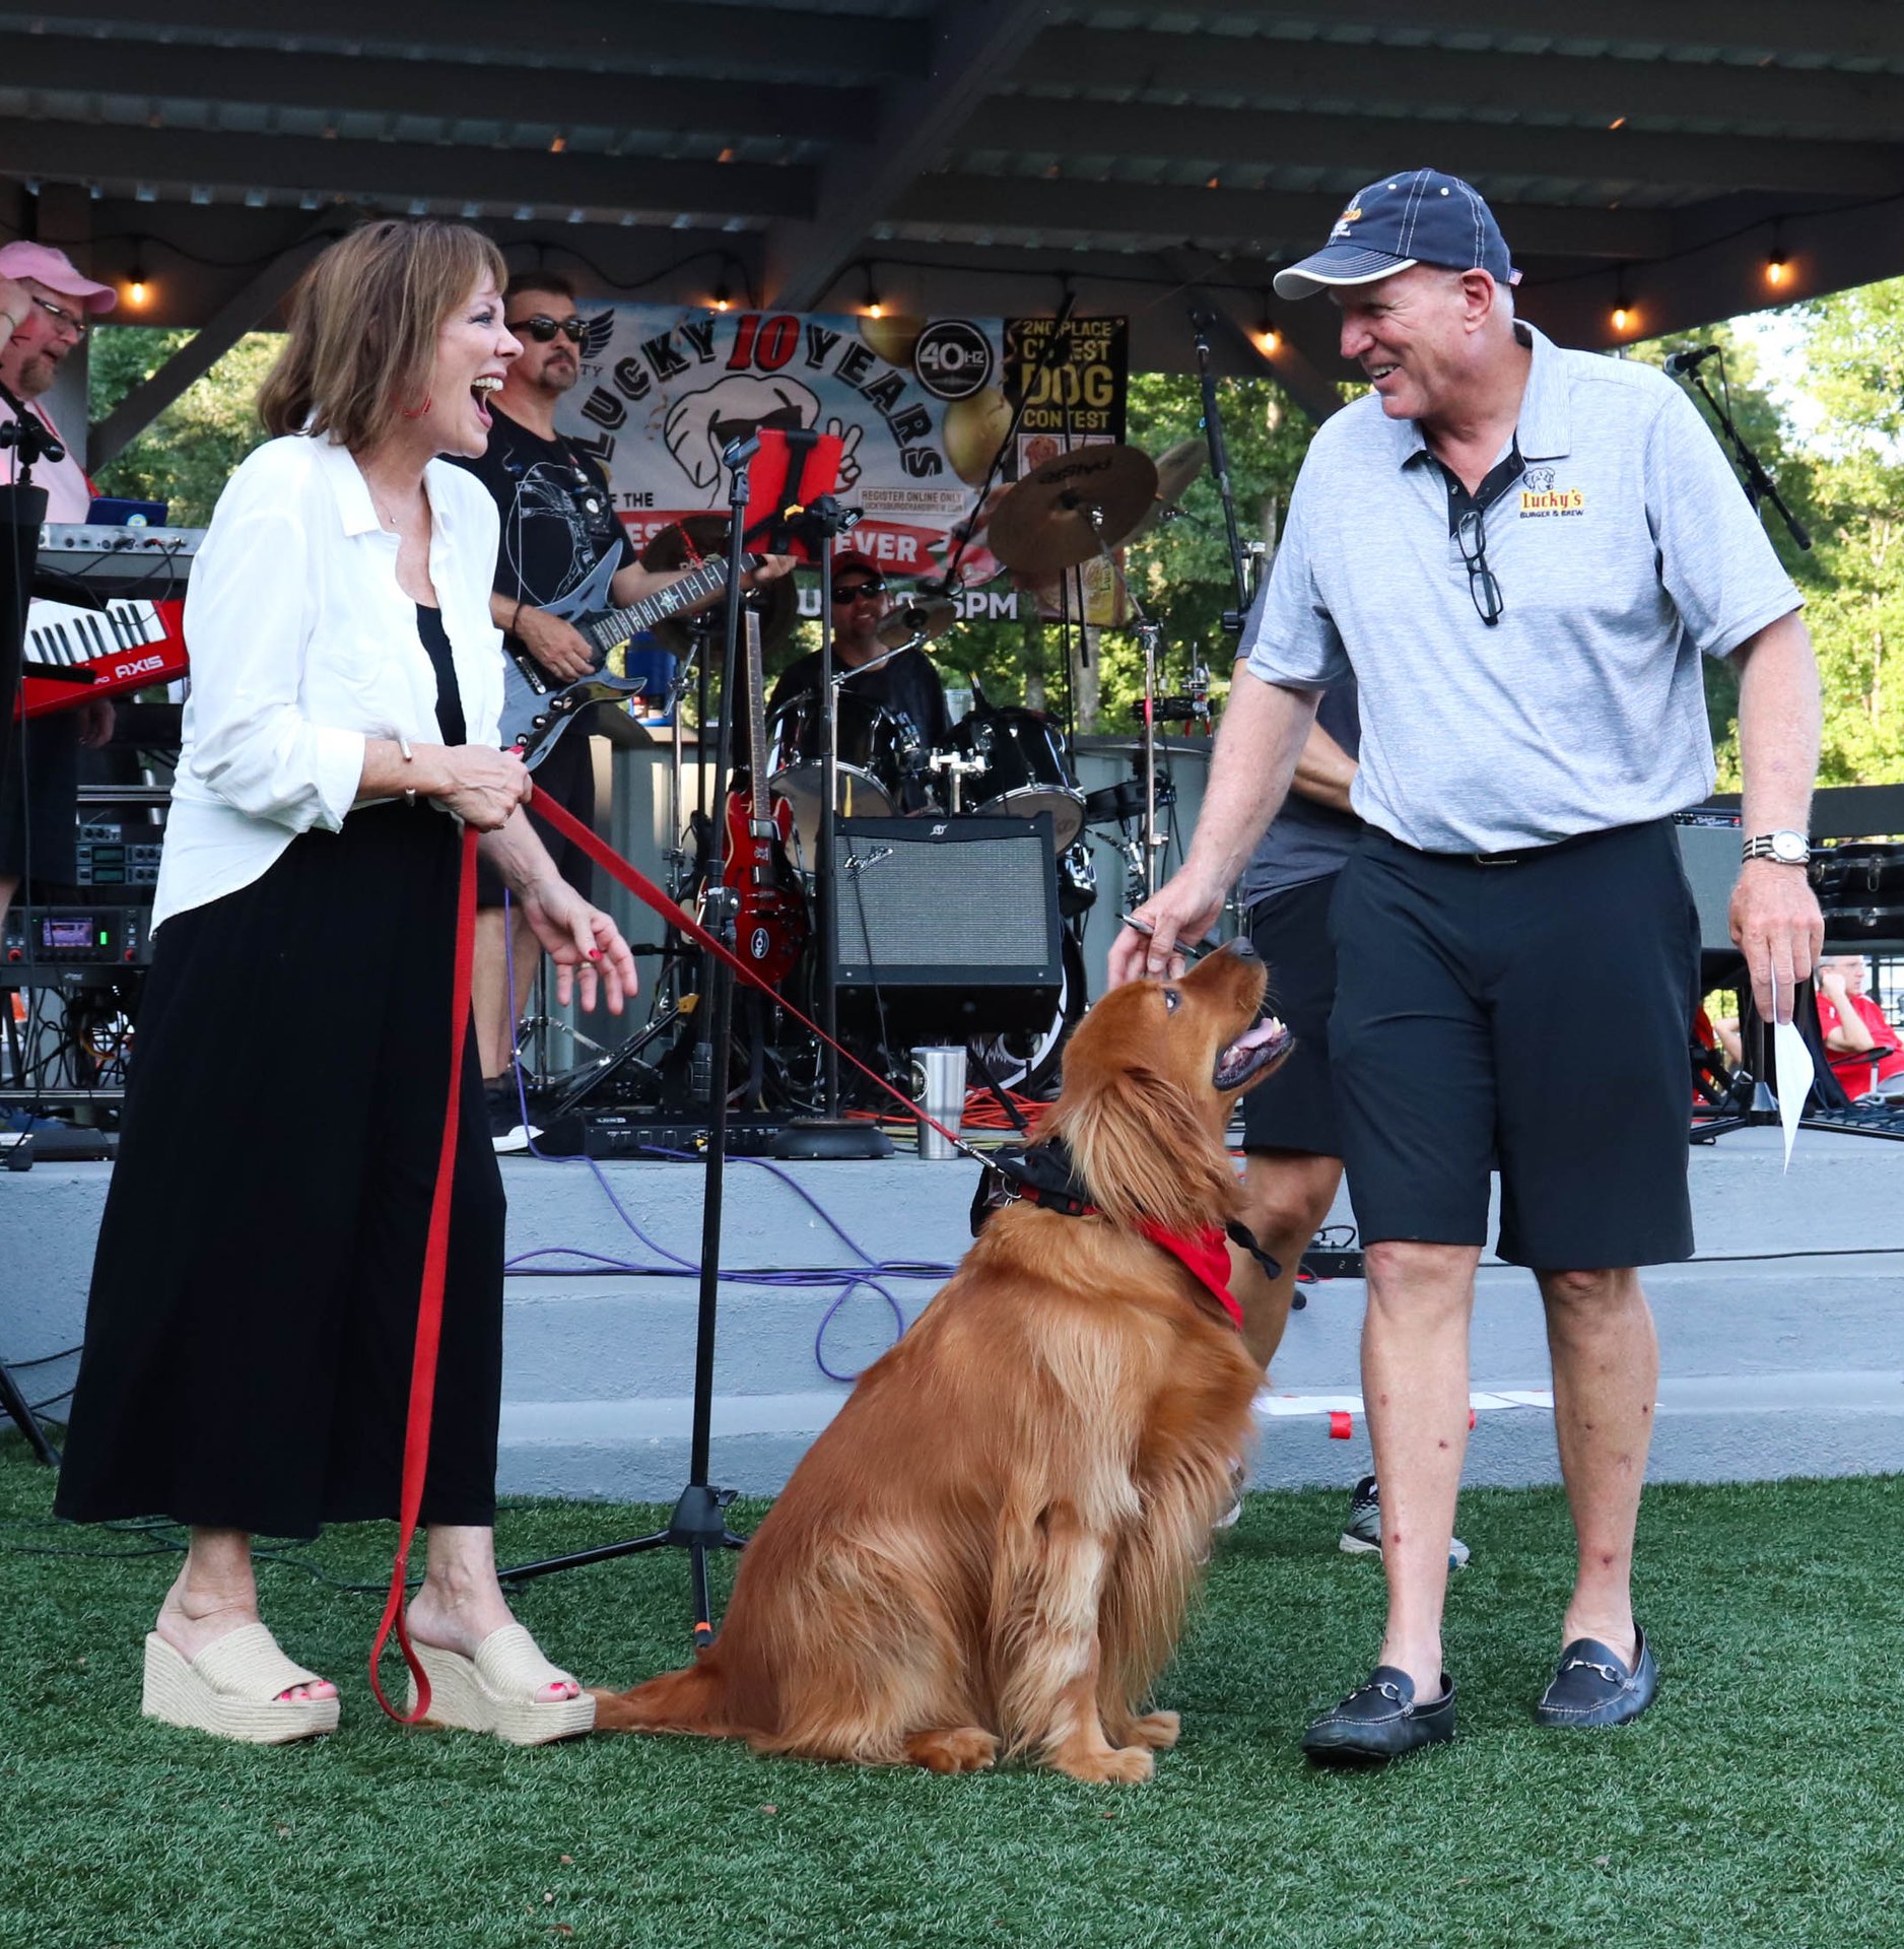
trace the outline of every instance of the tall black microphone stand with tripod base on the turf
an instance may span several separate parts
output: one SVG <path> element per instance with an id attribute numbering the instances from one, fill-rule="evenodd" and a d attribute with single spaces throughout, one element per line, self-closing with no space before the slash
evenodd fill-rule
<path id="1" fill-rule="evenodd" d="M 727 538 L 727 653 L 721 665 L 721 737 L 713 766 L 713 832 L 707 858 L 705 928 L 723 945 L 733 947 L 737 900 L 727 885 L 727 821 L 723 817 L 727 778 L 733 764 L 735 704 L 741 696 L 741 581 L 746 573 L 746 462 L 760 440 L 735 440 L 723 454 L 729 468 L 727 503 L 733 515 Z M 704 719 L 705 725 L 705 719 Z M 688 1440 L 688 1485 L 680 1491 L 666 1528 L 647 1536 L 631 1536 L 620 1544 L 600 1544 L 540 1563 L 522 1563 L 503 1571 L 507 1579 L 524 1581 L 548 1577 L 552 1571 L 579 1569 L 585 1563 L 608 1563 L 614 1557 L 643 1555 L 649 1549 L 686 1549 L 688 1579 L 694 1598 L 694 1643 L 704 1649 L 713 1643 L 713 1600 L 707 1590 L 707 1555 L 715 1549 L 741 1549 L 744 1536 L 727 1528 L 731 1489 L 715 1489 L 707 1481 L 707 1446 L 713 1427 L 713 1341 L 721 1298 L 721 1193 L 727 1167 L 727 1056 L 733 1037 L 733 973 L 723 959 L 702 949 L 702 998 L 711 998 L 713 1023 L 709 1041 L 713 1062 L 707 1088 L 707 1181 L 702 1195 L 702 1277 L 700 1312 L 694 1335 L 694 1425 Z M 696 1023 L 702 1010 L 696 1008 Z"/>

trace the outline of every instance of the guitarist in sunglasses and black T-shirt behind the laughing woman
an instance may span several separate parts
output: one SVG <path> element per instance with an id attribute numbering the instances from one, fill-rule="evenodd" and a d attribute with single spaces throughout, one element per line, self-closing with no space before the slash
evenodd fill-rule
<path id="1" fill-rule="evenodd" d="M 503 390 L 489 401 L 495 421 L 489 450 L 460 466 L 489 489 L 503 516 L 489 614 L 505 633 L 505 653 L 534 659 L 552 688 L 559 688 L 589 676 L 596 659 L 581 631 L 552 614 L 552 606 L 585 591 L 592 591 L 589 608 L 626 606 L 666 589 L 686 571 L 641 567 L 616 516 L 608 476 L 555 431 L 555 405 L 581 378 L 583 349 L 590 331 L 598 329 L 577 312 L 573 285 L 552 271 L 526 273 L 509 287 L 503 304 L 505 324 L 522 353 L 509 363 Z M 789 557 L 770 557 L 754 573 L 766 581 L 791 565 Z M 536 791 L 546 791 L 590 824 L 594 766 L 583 729 L 577 725 L 536 768 Z M 563 879 L 587 898 L 589 860 L 553 834 L 546 834 L 546 844 Z M 479 871 L 476 898 L 476 1039 L 491 1130 L 497 1150 L 526 1150 L 538 1132 L 522 1125 L 511 1056 L 540 949 L 520 912 L 514 941 L 505 941 L 503 885 L 493 873 Z M 516 973 L 513 994 L 511 949 Z"/>

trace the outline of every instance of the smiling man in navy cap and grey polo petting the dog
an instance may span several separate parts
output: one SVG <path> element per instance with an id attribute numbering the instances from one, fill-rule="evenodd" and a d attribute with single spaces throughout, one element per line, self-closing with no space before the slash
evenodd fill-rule
<path id="1" fill-rule="evenodd" d="M 1317 694 L 1354 674 L 1368 832 L 1331 902 L 1329 1054 L 1390 1610 L 1378 1666 L 1304 1739 L 1319 1760 L 1454 1735 L 1442 1602 L 1491 1166 L 1497 1249 L 1545 1304 L 1579 1540 L 1538 1717 L 1618 1725 L 1658 1684 L 1631 1606 L 1658 1382 L 1635 1267 L 1692 1253 L 1697 920 L 1670 815 L 1713 783 L 1701 653 L 1740 674 L 1733 936 L 1768 1019 L 1822 945 L 1799 594 L 1678 388 L 1518 324 L 1516 277 L 1481 197 L 1434 170 L 1370 183 L 1276 275 L 1284 298 L 1331 292 L 1374 392 L 1310 448 L 1189 860 L 1111 959 L 1113 980 L 1181 973 L 1171 943 L 1214 924 Z"/>

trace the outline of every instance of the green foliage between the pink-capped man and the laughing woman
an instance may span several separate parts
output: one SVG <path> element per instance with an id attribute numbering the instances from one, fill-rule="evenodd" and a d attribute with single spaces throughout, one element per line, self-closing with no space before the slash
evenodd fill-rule
<path id="1" fill-rule="evenodd" d="M 88 363 L 94 425 L 189 337 L 191 331 L 183 329 L 101 325 L 94 333 Z M 248 331 L 210 372 L 99 470 L 99 493 L 168 501 L 171 526 L 203 528 L 238 462 L 265 437 L 251 401 L 281 345 L 283 339 L 271 331 Z"/>

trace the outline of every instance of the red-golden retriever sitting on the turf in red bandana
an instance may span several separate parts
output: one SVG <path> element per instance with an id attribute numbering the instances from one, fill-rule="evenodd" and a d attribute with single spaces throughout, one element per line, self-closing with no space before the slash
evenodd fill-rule
<path id="1" fill-rule="evenodd" d="M 1140 1228 L 1208 1247 L 1234 1214 L 1230 1105 L 1290 1047 L 1259 1019 L 1263 990 L 1245 943 L 1091 1010 L 1039 1142 L 1068 1146 L 1095 1210 L 992 1216 L 793 1471 L 719 1639 L 686 1670 L 596 1692 L 598 1731 L 1150 1777 L 1177 1739 L 1150 1688 L 1261 1372 L 1212 1290 Z"/>

